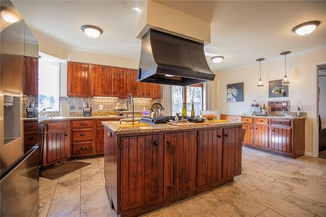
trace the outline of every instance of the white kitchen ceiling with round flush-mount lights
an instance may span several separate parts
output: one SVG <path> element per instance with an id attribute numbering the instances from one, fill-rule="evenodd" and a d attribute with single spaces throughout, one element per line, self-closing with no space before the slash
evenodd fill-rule
<path id="1" fill-rule="evenodd" d="M 139 59 L 136 38 L 138 13 L 144 1 L 12 1 L 35 36 L 62 47 Z M 207 62 L 215 73 L 284 58 L 326 46 L 326 1 L 156 1 L 211 23 L 211 42 L 205 52 L 224 56 Z M 164 19 L 164 17 L 162 17 Z M 307 36 L 292 28 L 318 20 Z M 92 39 L 82 25 L 99 26 L 103 34 Z M 262 66 L 264 64 L 262 62 Z"/>

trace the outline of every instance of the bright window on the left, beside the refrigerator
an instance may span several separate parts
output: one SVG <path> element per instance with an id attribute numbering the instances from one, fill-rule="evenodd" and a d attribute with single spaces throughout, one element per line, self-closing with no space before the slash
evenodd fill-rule
<path id="1" fill-rule="evenodd" d="M 59 112 L 59 79 L 60 63 L 39 59 L 39 112 Z"/>

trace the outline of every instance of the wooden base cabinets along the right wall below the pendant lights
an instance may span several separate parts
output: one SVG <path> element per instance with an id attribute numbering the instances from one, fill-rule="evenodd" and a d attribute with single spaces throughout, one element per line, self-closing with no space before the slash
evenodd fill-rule
<path id="1" fill-rule="evenodd" d="M 241 120 L 246 122 L 243 145 L 294 158 L 304 155 L 305 119 L 241 117 Z"/>

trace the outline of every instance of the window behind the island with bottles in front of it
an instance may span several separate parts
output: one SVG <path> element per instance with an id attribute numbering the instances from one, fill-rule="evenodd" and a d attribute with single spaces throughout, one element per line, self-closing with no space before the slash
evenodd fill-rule
<path id="1" fill-rule="evenodd" d="M 172 114 L 179 113 L 185 99 L 187 116 L 191 116 L 192 103 L 194 102 L 195 116 L 200 115 L 199 111 L 203 110 L 203 84 L 192 86 L 171 86 L 172 93 Z"/>

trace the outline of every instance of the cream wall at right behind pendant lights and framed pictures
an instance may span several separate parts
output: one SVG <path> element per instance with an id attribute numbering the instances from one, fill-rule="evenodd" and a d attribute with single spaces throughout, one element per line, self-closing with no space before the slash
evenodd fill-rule
<path id="1" fill-rule="evenodd" d="M 257 57 L 263 58 L 263 57 Z M 211 109 L 219 110 L 220 114 L 242 115 L 250 114 L 252 100 L 267 103 L 271 100 L 290 100 L 291 112 L 302 104 L 312 105 L 313 109 L 313 63 L 326 60 L 326 49 L 321 47 L 308 53 L 290 53 L 286 56 L 287 76 L 290 81 L 289 96 L 280 98 L 268 97 L 268 81 L 282 79 L 285 74 L 284 56 L 273 61 L 261 62 L 261 79 L 264 87 L 258 88 L 259 62 L 253 60 L 253 65 L 229 70 L 216 74 L 211 82 Z M 226 61 L 226 60 L 224 60 Z M 226 87 L 228 84 L 243 82 L 243 102 L 227 102 Z M 313 110 L 307 113 L 305 121 L 305 151 L 313 152 Z"/>

